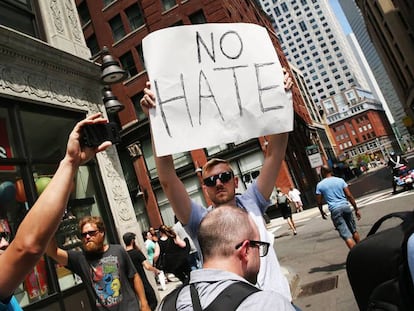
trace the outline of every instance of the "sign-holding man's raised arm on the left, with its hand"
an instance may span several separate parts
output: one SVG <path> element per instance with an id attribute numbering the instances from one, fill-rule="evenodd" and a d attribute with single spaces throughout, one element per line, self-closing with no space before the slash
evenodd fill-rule
<path id="1" fill-rule="evenodd" d="M 148 116 L 148 110 L 155 108 L 154 93 L 150 90 L 150 84 L 147 82 L 147 88 L 144 89 L 144 97 L 141 99 L 141 107 Z M 178 178 L 175 172 L 174 161 L 172 156 L 157 157 L 154 143 L 154 158 L 157 167 L 158 178 L 174 214 L 182 224 L 187 224 L 191 215 L 191 200 L 187 190 Z"/>

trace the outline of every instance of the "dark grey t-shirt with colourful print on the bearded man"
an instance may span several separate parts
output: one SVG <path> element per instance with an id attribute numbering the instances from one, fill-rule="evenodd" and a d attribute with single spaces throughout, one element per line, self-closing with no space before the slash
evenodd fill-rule
<path id="1" fill-rule="evenodd" d="M 95 257 L 68 251 L 67 267 L 82 278 L 95 310 L 139 310 L 135 291 L 130 285 L 130 279 L 137 272 L 120 245 L 109 245 L 106 252 Z"/>

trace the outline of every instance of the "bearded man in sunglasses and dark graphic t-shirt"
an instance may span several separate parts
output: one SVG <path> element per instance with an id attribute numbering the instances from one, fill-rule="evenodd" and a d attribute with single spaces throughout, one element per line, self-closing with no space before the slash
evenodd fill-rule
<path id="1" fill-rule="evenodd" d="M 82 252 L 63 250 L 53 241 L 47 255 L 82 278 L 92 310 L 150 311 L 142 280 L 128 253 L 121 245 L 105 244 L 102 218 L 82 218 L 79 231 Z"/>

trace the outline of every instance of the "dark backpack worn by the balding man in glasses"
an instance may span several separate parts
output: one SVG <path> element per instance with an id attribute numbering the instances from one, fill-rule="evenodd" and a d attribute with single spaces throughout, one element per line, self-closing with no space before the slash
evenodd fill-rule
<path id="1" fill-rule="evenodd" d="M 204 310 L 201 308 L 198 293 L 193 284 L 176 288 L 164 298 L 161 311 L 176 311 L 178 295 L 185 286 L 190 286 L 191 299 L 194 311 L 231 311 L 249 297 L 251 294 L 260 291 L 257 287 L 246 282 L 237 281 L 227 286 Z"/>

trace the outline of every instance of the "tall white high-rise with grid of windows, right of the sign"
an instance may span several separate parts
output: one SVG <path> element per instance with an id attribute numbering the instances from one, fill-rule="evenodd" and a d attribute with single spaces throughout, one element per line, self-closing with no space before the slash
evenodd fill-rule
<path id="1" fill-rule="evenodd" d="M 289 62 L 305 78 L 313 102 L 352 86 L 368 89 L 345 34 L 328 0 L 260 0 Z"/>

